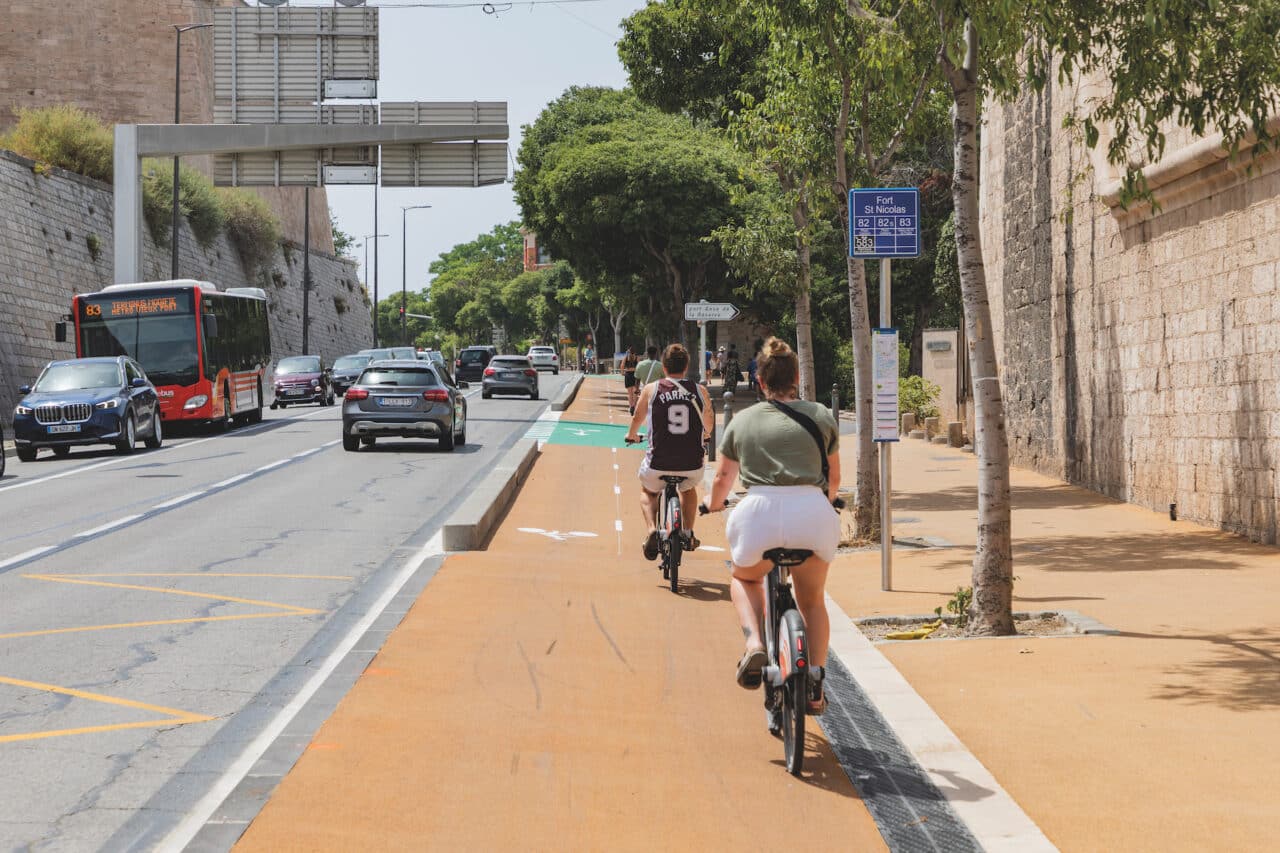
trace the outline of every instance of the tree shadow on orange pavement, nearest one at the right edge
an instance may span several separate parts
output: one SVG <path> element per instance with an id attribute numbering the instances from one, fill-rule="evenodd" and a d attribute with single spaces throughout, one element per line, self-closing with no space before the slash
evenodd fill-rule
<path id="1" fill-rule="evenodd" d="M 1206 643 L 1201 660 L 1167 670 L 1172 681 L 1155 698 L 1192 704 L 1212 704 L 1229 711 L 1280 708 L 1280 629 L 1254 628 L 1231 634 L 1143 634 L 1119 637 Z"/>

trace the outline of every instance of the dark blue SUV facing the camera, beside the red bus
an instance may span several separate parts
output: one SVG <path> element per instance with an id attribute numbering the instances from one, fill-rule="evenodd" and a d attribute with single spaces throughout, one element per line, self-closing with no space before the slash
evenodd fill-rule
<path id="1" fill-rule="evenodd" d="M 50 361 L 14 410 L 18 459 L 41 447 L 67 456 L 77 444 L 114 444 L 132 453 L 140 435 L 160 447 L 160 397 L 142 366 L 128 356 Z"/>

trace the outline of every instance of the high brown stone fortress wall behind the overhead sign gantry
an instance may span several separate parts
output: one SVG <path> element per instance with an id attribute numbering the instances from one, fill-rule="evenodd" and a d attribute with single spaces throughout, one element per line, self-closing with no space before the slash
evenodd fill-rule
<path id="1" fill-rule="evenodd" d="M 74 104 L 109 123 L 173 122 L 173 24 L 210 23 L 243 0 L 0 0 L 0 128 L 19 108 Z M 214 120 L 212 29 L 182 37 L 182 120 Z M 212 173 L 210 158 L 184 164 Z M 289 240 L 302 241 L 302 188 L 260 195 Z M 333 251 L 324 188 L 311 193 L 311 243 Z"/>

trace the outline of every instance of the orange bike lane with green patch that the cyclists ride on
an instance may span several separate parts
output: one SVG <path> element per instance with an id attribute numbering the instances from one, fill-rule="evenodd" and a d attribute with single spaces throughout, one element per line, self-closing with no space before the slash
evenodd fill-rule
<path id="1" fill-rule="evenodd" d="M 584 384 L 552 430 L 576 443 L 445 560 L 242 849 L 884 849 L 822 731 L 788 776 L 733 683 L 722 519 L 681 594 L 643 560 L 626 420 L 621 383 Z"/>

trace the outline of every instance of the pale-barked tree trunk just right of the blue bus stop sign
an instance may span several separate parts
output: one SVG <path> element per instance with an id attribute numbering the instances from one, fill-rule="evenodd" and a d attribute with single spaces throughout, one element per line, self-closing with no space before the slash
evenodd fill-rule
<path id="1" fill-rule="evenodd" d="M 956 259 L 974 394 L 974 451 L 978 455 L 978 544 L 973 557 L 970 634 L 1012 634 L 1012 542 L 1009 503 L 1009 435 L 1000 392 L 991 304 L 978 231 L 978 33 L 965 20 L 965 63 L 942 56 L 952 93 Z"/>

